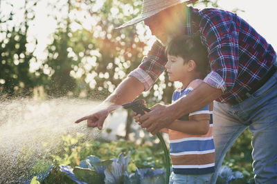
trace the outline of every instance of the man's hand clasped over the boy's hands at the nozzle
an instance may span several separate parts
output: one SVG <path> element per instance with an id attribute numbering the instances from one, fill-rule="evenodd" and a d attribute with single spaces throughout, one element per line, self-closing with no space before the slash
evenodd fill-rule
<path id="1" fill-rule="evenodd" d="M 151 112 L 138 117 L 141 127 L 146 127 L 146 131 L 151 134 L 157 134 L 164 127 L 168 127 L 174 121 L 170 112 L 167 110 L 167 105 L 157 104 L 151 109 Z"/>

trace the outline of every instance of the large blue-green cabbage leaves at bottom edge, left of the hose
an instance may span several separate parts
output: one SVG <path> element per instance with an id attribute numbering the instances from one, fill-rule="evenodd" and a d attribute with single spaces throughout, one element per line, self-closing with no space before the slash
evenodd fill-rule
<path id="1" fill-rule="evenodd" d="M 97 156 L 87 156 L 84 161 L 80 161 L 78 167 L 72 168 L 69 165 L 60 165 L 60 170 L 79 184 L 154 184 L 165 182 L 166 170 L 136 168 L 134 173 L 127 172 L 129 154 L 130 152 L 124 157 L 124 154 L 120 153 L 117 159 L 107 161 L 101 161 Z"/>

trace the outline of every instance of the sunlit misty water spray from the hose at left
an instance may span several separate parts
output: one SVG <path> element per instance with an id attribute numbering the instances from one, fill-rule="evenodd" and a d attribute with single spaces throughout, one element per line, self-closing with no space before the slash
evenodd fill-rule
<path id="1" fill-rule="evenodd" d="M 107 108 L 99 101 L 87 99 L 0 96 L 0 183 L 20 183 L 20 179 L 35 174 L 33 167 L 40 161 L 50 161 L 52 155 L 62 156 L 65 143 L 62 136 L 82 136 L 86 141 L 98 139 L 98 130 L 72 123 L 91 106 Z M 92 109 L 91 113 L 97 110 Z"/>

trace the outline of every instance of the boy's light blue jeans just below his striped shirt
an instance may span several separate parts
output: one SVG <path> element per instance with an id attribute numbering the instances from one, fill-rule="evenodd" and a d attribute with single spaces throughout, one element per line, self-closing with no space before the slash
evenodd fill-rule
<path id="1" fill-rule="evenodd" d="M 169 184 L 205 184 L 211 181 L 212 174 L 175 174 L 170 175 Z"/>

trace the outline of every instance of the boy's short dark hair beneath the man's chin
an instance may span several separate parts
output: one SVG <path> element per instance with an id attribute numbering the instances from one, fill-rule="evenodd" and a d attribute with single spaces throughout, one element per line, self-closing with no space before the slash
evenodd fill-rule
<path id="1" fill-rule="evenodd" d="M 200 35 L 177 36 L 170 40 L 166 46 L 166 55 L 181 57 L 184 63 L 193 60 L 196 63 L 196 71 L 200 72 L 203 79 L 211 70 L 208 63 L 208 52 L 202 44 Z"/>

